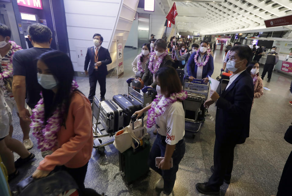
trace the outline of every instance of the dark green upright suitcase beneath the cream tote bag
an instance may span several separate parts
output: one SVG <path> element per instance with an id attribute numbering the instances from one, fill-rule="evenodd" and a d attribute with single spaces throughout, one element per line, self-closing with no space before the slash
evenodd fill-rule
<path id="1" fill-rule="evenodd" d="M 130 147 L 123 153 L 119 152 L 120 171 L 123 172 L 123 179 L 127 184 L 147 175 L 149 172 L 148 157 L 150 143 L 144 139 L 144 145 L 139 146 L 135 151 Z"/>

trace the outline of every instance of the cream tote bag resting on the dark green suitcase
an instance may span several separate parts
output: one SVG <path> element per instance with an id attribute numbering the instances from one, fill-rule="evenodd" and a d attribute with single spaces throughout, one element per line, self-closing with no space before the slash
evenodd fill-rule
<path id="1" fill-rule="evenodd" d="M 147 116 L 144 117 L 144 122 L 146 121 Z M 133 148 L 137 148 L 133 143 L 133 139 L 136 143 L 140 143 L 140 140 L 144 138 L 146 133 L 146 123 L 144 123 L 144 126 L 142 126 L 142 119 L 138 119 L 134 122 L 134 130 L 133 125 L 130 122 L 128 126 L 116 132 L 113 145 L 116 147 L 117 150 L 120 151 L 120 153 L 125 152 L 131 146 Z"/>

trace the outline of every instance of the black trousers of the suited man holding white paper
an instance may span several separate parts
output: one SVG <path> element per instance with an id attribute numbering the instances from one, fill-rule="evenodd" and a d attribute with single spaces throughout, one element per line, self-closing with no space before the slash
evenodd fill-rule
<path id="1" fill-rule="evenodd" d="M 215 139 L 214 145 L 214 173 L 209 178 L 208 186 L 220 189 L 224 179 L 230 180 L 233 168 L 234 148 L 236 143 L 221 143 Z"/>

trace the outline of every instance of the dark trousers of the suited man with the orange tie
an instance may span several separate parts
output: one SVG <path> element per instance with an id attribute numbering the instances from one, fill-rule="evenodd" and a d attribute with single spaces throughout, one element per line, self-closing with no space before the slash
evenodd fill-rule
<path id="1" fill-rule="evenodd" d="M 89 76 L 90 91 L 88 99 L 91 103 L 93 97 L 95 96 L 97 81 L 100 86 L 100 97 L 104 97 L 104 95 L 106 94 L 106 74 L 101 74 L 98 71 L 93 70 L 93 73 Z"/>

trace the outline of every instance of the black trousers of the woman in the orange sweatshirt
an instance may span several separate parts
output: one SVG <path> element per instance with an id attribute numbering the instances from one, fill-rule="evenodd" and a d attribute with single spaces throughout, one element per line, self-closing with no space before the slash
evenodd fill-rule
<path id="1" fill-rule="evenodd" d="M 55 167 L 54 171 L 59 171 L 59 170 L 67 171 L 68 174 L 70 174 L 73 177 L 76 184 L 78 185 L 79 191 L 80 191 L 79 195 L 82 195 L 82 193 L 85 190 L 84 180 L 85 180 L 85 176 L 87 172 L 87 166 L 88 166 L 88 162 L 84 166 L 78 167 L 78 168 L 69 168 L 62 165 L 62 166 Z"/>

